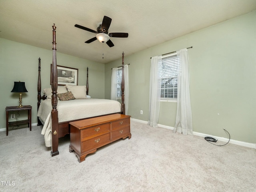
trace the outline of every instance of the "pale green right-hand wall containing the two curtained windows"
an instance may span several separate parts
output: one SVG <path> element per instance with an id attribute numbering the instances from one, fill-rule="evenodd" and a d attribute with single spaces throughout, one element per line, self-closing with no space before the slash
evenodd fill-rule
<path id="1" fill-rule="evenodd" d="M 193 130 L 227 137 L 225 128 L 233 140 L 256 143 L 255 11 L 129 56 L 124 53 L 124 64 L 130 63 L 128 115 L 148 121 L 150 57 L 190 46 Z M 105 98 L 110 98 L 111 68 L 120 64 L 121 59 L 105 66 Z M 161 102 L 158 123 L 173 127 L 175 118 L 176 102 Z"/>

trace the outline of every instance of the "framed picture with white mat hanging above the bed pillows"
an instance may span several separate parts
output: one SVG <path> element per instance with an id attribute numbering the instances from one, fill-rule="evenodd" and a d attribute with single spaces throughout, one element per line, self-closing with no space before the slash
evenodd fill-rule
<path id="1" fill-rule="evenodd" d="M 51 64 L 52 71 L 52 64 Z M 58 85 L 78 85 L 78 69 L 57 65 Z M 50 84 L 52 84 L 52 75 Z"/>

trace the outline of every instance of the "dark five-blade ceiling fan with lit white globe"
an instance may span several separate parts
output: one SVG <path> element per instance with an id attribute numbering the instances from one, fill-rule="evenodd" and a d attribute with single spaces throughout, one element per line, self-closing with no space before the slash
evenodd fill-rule
<path id="1" fill-rule="evenodd" d="M 87 40 L 85 43 L 91 43 L 91 42 L 94 42 L 95 40 L 98 39 L 100 42 L 106 43 L 109 47 L 113 47 L 114 44 L 109 39 L 110 37 L 125 38 L 125 37 L 128 37 L 128 33 L 110 33 L 110 34 L 108 34 L 108 28 L 111 24 L 111 21 L 112 21 L 111 18 L 109 18 L 107 16 L 104 16 L 104 18 L 102 20 L 102 24 L 100 24 L 97 27 L 97 31 L 94 31 L 94 30 L 89 29 L 89 28 L 84 27 L 84 26 L 80 26 L 78 24 L 75 24 L 75 27 L 97 34 L 96 37 Z"/>

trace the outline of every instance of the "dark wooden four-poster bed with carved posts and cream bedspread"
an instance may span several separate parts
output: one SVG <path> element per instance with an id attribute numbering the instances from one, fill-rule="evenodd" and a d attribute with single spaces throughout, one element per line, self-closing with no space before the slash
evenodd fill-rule
<path id="1" fill-rule="evenodd" d="M 89 114 L 86 114 L 85 116 L 76 116 L 76 118 L 70 118 L 70 116 L 68 117 L 68 120 L 65 120 L 64 118 L 62 118 L 62 112 L 66 112 L 66 108 L 61 108 L 62 103 L 67 102 L 67 103 L 71 103 L 74 102 L 74 100 L 70 100 L 70 101 L 60 101 L 58 100 L 58 76 L 57 76 L 57 62 L 56 62 L 56 26 L 54 24 L 54 26 L 52 26 L 53 28 L 53 42 L 52 42 L 52 50 L 53 50 L 53 55 L 52 55 L 52 68 L 51 68 L 51 90 L 52 90 L 52 96 L 51 99 L 48 98 L 43 95 L 41 96 L 41 77 L 40 77 L 40 70 L 41 70 L 41 59 L 39 58 L 39 66 L 38 66 L 38 114 L 39 113 L 46 113 L 43 112 L 42 108 L 43 108 L 43 103 L 45 106 L 47 106 L 47 102 L 49 103 L 49 100 L 51 101 L 51 110 L 49 112 L 49 115 L 47 118 L 44 118 L 44 121 L 41 122 L 42 120 L 38 117 L 38 125 L 41 125 L 42 123 L 44 124 L 44 127 L 48 128 L 49 130 L 49 134 L 50 134 L 50 142 L 51 142 L 51 147 L 52 147 L 52 151 L 51 151 L 51 156 L 56 156 L 59 154 L 58 152 L 58 139 L 65 136 L 66 134 L 70 133 L 70 125 L 69 123 L 72 121 L 76 121 L 76 120 L 81 120 L 81 119 L 86 119 L 86 118 L 92 118 L 92 117 L 96 117 L 96 116 L 104 116 L 104 115 L 108 115 L 108 114 L 114 114 L 114 113 L 120 113 L 120 114 L 125 114 L 125 105 L 124 105 L 124 71 L 122 72 L 122 102 L 121 104 L 117 101 L 113 101 L 113 100 L 106 100 L 107 102 L 117 102 L 119 104 L 119 108 L 118 110 L 116 110 L 116 106 L 114 109 L 112 109 L 112 111 L 108 111 L 108 110 L 101 110 L 102 108 L 104 108 L 104 104 L 102 104 L 101 102 L 103 102 L 103 99 L 85 99 L 86 102 L 92 102 L 93 100 L 97 100 L 98 103 L 98 107 L 100 107 L 100 112 L 94 111 L 92 112 L 92 114 L 90 114 L 91 111 L 89 111 Z M 122 53 L 122 69 L 124 70 L 124 52 Z M 87 68 L 87 81 L 86 81 L 86 95 L 88 95 L 88 68 Z M 43 100 L 41 102 L 41 100 Z M 46 100 L 48 100 L 46 102 Z M 77 99 L 75 99 L 77 100 Z M 58 104 L 59 102 L 59 104 Z M 78 106 L 82 106 L 82 100 L 78 101 L 79 104 L 76 104 Z M 96 102 L 96 104 L 97 104 Z M 58 105 L 58 108 L 57 108 Z M 113 106 L 113 104 L 110 103 L 111 106 Z M 47 108 L 47 107 L 46 107 Z M 88 108 L 87 106 L 85 108 Z M 92 104 L 92 106 L 89 109 L 94 109 L 97 108 L 95 107 L 95 104 Z M 109 106 L 106 106 L 105 108 L 110 108 Z M 48 104 L 48 110 L 49 110 L 49 104 Z M 68 111 L 72 110 L 72 108 L 69 108 Z M 59 113 L 59 111 L 61 113 Z M 88 112 L 88 110 L 87 110 Z M 81 114 L 81 113 L 80 113 Z M 49 121 L 49 122 L 45 122 Z M 47 127 L 48 126 L 48 127 Z M 43 130 L 46 129 L 43 127 Z M 46 138 L 46 137 L 45 137 Z"/>

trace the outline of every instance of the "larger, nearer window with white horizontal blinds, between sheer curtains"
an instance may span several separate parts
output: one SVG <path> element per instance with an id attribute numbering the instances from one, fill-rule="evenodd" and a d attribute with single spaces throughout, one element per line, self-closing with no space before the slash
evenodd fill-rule
<path id="1" fill-rule="evenodd" d="M 177 100 L 178 58 L 177 54 L 162 57 L 161 100 Z"/>

